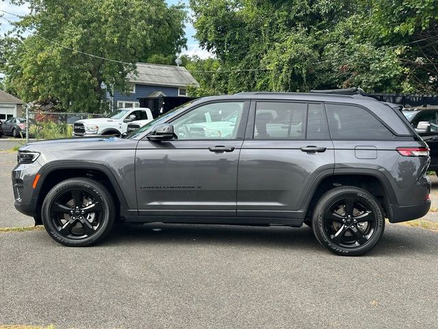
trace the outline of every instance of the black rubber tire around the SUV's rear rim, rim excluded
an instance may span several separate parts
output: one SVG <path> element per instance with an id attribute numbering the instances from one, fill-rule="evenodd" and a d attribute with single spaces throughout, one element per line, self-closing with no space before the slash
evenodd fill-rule
<path id="1" fill-rule="evenodd" d="M 368 206 L 372 208 L 374 216 L 376 217 L 375 232 L 367 243 L 359 247 L 345 248 L 336 245 L 333 243 L 333 241 L 331 241 L 324 230 L 324 215 L 327 208 L 331 206 L 333 202 L 336 202 L 337 199 L 342 199 L 344 197 L 357 197 L 358 199 L 362 199 L 363 201 L 367 202 Z M 324 247 L 339 255 L 359 256 L 369 252 L 381 239 L 384 230 L 385 218 L 383 217 L 381 206 L 378 204 L 375 197 L 373 197 L 367 191 L 361 190 L 360 188 L 334 188 L 323 195 L 313 214 L 313 233 L 315 234 L 316 238 Z"/>

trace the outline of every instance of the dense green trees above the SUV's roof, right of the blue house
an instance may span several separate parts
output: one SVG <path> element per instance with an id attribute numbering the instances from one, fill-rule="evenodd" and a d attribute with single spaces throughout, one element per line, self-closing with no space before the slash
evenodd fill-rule
<path id="1" fill-rule="evenodd" d="M 222 79 L 215 73 L 203 80 L 207 94 L 211 86 L 222 93 L 350 86 L 368 92 L 437 90 L 437 0 L 190 5 L 196 38 L 215 54 L 218 68 L 228 71 Z M 253 70 L 240 71 L 248 69 Z"/>

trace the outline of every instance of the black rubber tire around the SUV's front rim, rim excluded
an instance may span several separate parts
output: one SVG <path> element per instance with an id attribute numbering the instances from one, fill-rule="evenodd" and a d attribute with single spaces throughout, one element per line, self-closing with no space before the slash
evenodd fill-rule
<path id="1" fill-rule="evenodd" d="M 90 237 L 86 237 L 84 239 L 69 239 L 65 236 L 62 236 L 55 225 L 52 223 L 50 208 L 53 202 L 55 201 L 57 195 L 60 193 L 64 193 L 72 188 L 83 188 L 94 193 L 97 197 L 99 197 L 99 202 L 102 204 L 102 221 L 99 229 L 92 234 Z M 47 233 L 54 239 L 55 241 L 62 243 L 63 245 L 68 246 L 87 246 L 97 243 L 103 236 L 107 234 L 107 232 L 111 229 L 112 224 L 114 223 L 114 206 L 113 202 L 108 199 L 108 193 L 103 190 L 103 186 L 99 186 L 90 180 L 81 180 L 81 179 L 71 179 L 66 180 L 64 182 L 60 182 L 55 185 L 51 191 L 47 194 L 42 204 L 42 223 L 44 228 L 47 230 Z"/>

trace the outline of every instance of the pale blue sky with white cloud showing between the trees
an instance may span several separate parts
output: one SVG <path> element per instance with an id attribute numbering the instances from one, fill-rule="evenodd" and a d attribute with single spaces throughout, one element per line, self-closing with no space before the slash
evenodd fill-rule
<path id="1" fill-rule="evenodd" d="M 179 3 L 180 0 L 165 0 L 169 5 L 174 5 Z M 188 0 L 181 0 L 182 3 L 188 7 Z M 9 1 L 0 0 L 0 10 L 5 10 L 6 12 L 11 12 L 12 14 L 23 15 L 28 12 L 27 6 L 21 5 L 16 6 L 9 3 Z M 190 12 L 189 12 L 190 15 Z M 16 16 L 10 14 L 4 14 L 3 16 L 10 21 L 15 21 Z M 5 19 L 0 19 L 0 34 L 7 32 L 11 28 L 10 23 Z M 190 22 L 185 23 L 185 36 L 187 38 L 187 50 L 183 50 L 183 54 L 188 54 L 189 56 L 199 56 L 200 58 L 207 58 L 211 56 L 208 51 L 203 50 L 199 47 L 198 42 L 194 39 L 195 29 Z"/>

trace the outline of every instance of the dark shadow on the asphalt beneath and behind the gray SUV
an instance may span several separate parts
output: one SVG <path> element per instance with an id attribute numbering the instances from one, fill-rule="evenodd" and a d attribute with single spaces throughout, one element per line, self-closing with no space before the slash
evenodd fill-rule
<path id="1" fill-rule="evenodd" d="M 413 236 L 415 234 L 415 236 Z M 367 256 L 406 256 L 433 254 L 438 256 L 438 235 L 421 228 L 388 224 L 376 248 Z M 289 228 L 281 226 L 222 226 L 194 224 L 119 224 L 102 247 L 118 245 L 227 245 L 242 247 L 288 248 L 291 252 L 326 252 L 307 226 Z"/>

